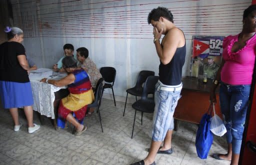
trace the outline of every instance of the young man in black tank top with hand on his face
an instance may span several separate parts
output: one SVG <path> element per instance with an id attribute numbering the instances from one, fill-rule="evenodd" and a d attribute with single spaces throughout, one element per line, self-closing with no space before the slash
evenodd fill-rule
<path id="1" fill-rule="evenodd" d="M 147 17 L 153 26 L 153 43 L 160 59 L 159 81 L 155 87 L 152 141 L 144 160 L 133 164 L 155 164 L 156 153 L 171 154 L 173 113 L 182 88 L 181 72 L 185 60 L 185 37 L 173 24 L 171 12 L 164 7 L 151 10 Z M 161 35 L 164 35 L 160 43 Z M 163 145 L 161 143 L 163 141 Z M 161 146 L 161 147 L 160 147 Z"/>

